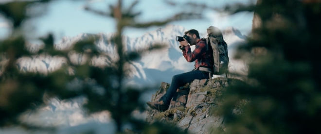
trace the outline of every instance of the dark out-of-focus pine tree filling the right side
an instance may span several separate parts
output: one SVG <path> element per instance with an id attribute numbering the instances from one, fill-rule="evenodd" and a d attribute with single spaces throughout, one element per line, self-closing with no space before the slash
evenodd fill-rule
<path id="1" fill-rule="evenodd" d="M 255 16 L 252 36 L 238 53 L 249 61 L 248 84 L 229 87 L 217 111 L 225 133 L 320 134 L 321 1 L 258 0 L 227 10 Z"/>

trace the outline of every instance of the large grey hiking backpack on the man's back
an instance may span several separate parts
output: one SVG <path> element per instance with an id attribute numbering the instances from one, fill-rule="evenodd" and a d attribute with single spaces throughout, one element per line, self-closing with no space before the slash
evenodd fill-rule
<path id="1" fill-rule="evenodd" d="M 223 39 L 222 32 L 213 26 L 207 28 L 207 49 L 211 47 L 213 49 L 213 74 L 221 75 L 225 73 L 227 75 L 229 68 L 229 55 L 227 50 L 227 44 Z"/>

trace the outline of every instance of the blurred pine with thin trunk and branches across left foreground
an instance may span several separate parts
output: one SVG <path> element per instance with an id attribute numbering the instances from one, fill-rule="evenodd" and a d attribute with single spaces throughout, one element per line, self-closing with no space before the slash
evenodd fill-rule
<path id="1" fill-rule="evenodd" d="M 73 97 L 84 96 L 88 102 L 84 105 L 89 113 L 108 110 L 116 123 L 117 132 L 123 132 L 124 124 L 130 124 L 135 133 L 156 134 L 179 134 L 182 133 L 176 127 L 169 124 L 156 122 L 148 124 L 145 121 L 137 120 L 132 117 L 134 110 L 143 110 L 145 105 L 138 101 L 140 95 L 146 89 L 137 87 L 125 87 L 124 78 L 127 77 L 127 63 L 137 59 L 140 54 L 153 49 L 160 49 L 162 44 L 155 44 L 151 48 L 143 50 L 125 52 L 122 42 L 122 32 L 125 27 L 146 28 L 149 26 L 160 26 L 173 20 L 188 18 L 199 18 L 196 13 L 179 13 L 163 21 L 152 21 L 139 23 L 135 17 L 140 13 L 134 12 L 133 8 L 138 3 L 135 1 L 131 6 L 124 9 L 122 0 L 118 0 L 116 5 L 110 5 L 109 11 L 97 11 L 86 7 L 85 9 L 96 15 L 104 17 L 113 17 L 117 21 L 117 32 L 110 39 L 116 46 L 116 57 L 118 60 L 106 67 L 94 67 L 90 64 L 90 59 L 94 56 L 107 55 L 98 50 L 94 42 L 98 39 L 93 35 L 87 39 L 82 39 L 73 44 L 70 51 L 76 51 L 87 55 L 89 58 L 85 64 L 73 64 L 68 57 L 70 51 L 59 51 L 54 49 L 54 36 L 49 34 L 47 37 L 40 38 L 45 47 L 37 53 L 30 53 L 26 50 L 27 39 L 24 37 L 21 26 L 25 25 L 24 20 L 32 17 L 26 13 L 27 8 L 39 2 L 50 2 L 50 0 L 30 0 L 13 1 L 0 5 L 0 14 L 12 23 L 12 34 L 3 40 L 0 40 L 1 65 L 0 71 L 0 126 L 23 125 L 26 128 L 37 128 L 25 124 L 19 120 L 19 115 L 28 109 L 34 109 L 44 103 L 43 96 L 58 97 L 60 99 L 70 99 Z M 42 12 L 42 11 L 41 11 Z M 34 72 L 20 72 L 17 68 L 17 59 L 22 56 L 32 56 L 37 54 L 46 54 L 50 56 L 60 56 L 67 59 L 67 64 L 60 69 L 50 72 L 47 75 Z M 69 72 L 72 68 L 72 72 Z M 128 68 L 128 67 L 127 67 Z M 67 84 L 72 81 L 81 81 L 81 88 L 70 90 Z M 92 85 L 94 81 L 96 86 Z M 103 87 L 103 92 L 96 92 L 94 88 Z"/>

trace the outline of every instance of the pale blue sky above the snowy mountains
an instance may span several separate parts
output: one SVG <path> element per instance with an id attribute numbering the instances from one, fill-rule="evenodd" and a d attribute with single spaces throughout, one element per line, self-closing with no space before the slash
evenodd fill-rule
<path id="1" fill-rule="evenodd" d="M 2 1 L 2 0 L 1 0 Z M 10 0 L 4 0 L 10 1 Z M 124 0 L 123 4 L 128 7 L 134 0 Z M 171 6 L 164 0 L 139 0 L 134 11 L 141 11 L 142 14 L 136 18 L 139 22 L 163 20 L 174 16 L 176 13 L 193 11 L 193 7 L 184 3 L 195 0 L 172 0 L 179 3 L 179 6 Z M 211 1 L 211 2 L 209 2 Z M 54 33 L 55 41 L 62 37 L 73 37 L 81 33 L 114 33 L 116 21 L 111 17 L 101 17 L 84 10 L 85 5 L 94 9 L 108 11 L 109 4 L 115 4 L 117 0 L 54 0 L 45 8 L 44 15 L 26 21 L 28 29 L 32 29 L 35 38 L 44 36 L 47 33 Z M 255 0 L 197 0 L 197 3 L 206 3 L 211 7 L 224 7 L 226 4 L 255 3 Z M 224 30 L 227 27 L 234 27 L 243 34 L 250 33 L 252 25 L 252 12 L 242 12 L 229 15 L 213 10 L 203 10 L 203 19 L 174 21 L 169 24 L 180 25 L 186 29 L 206 31 L 206 28 L 213 25 Z M 32 27 L 30 27 L 32 26 Z M 163 26 L 165 27 L 165 26 Z M 158 27 L 149 28 L 126 28 L 124 33 L 130 37 L 138 37 Z M 9 25 L 0 16 L 0 38 L 10 33 Z"/>

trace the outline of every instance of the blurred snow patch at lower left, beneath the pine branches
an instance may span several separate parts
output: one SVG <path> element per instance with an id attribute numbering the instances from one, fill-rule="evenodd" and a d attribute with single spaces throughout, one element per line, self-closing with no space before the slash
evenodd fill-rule
<path id="1" fill-rule="evenodd" d="M 53 98 L 48 101 L 49 103 L 46 106 L 41 107 L 32 114 L 24 114 L 20 118 L 30 124 L 47 127 L 76 126 L 89 121 L 110 122 L 110 113 L 108 111 L 86 116 L 86 113 L 81 108 L 81 105 L 86 102 L 83 97 L 61 101 Z"/>

